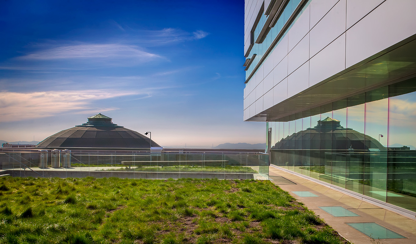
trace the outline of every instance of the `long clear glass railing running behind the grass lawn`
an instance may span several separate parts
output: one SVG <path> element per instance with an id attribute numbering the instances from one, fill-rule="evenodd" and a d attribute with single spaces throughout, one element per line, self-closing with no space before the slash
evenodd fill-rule
<path id="1" fill-rule="evenodd" d="M 218 178 L 268 180 L 259 152 L 15 150 L 0 153 L 2 170 L 21 177 Z"/>

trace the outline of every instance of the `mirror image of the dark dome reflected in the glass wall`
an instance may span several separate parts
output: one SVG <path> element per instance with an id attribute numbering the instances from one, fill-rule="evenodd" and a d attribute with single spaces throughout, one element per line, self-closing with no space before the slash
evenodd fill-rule
<path id="1" fill-rule="evenodd" d="M 282 138 L 273 149 L 332 149 L 368 150 L 386 149 L 379 141 L 358 131 L 341 126 L 339 120 L 325 118 L 317 121 L 314 128 L 293 133 Z"/>

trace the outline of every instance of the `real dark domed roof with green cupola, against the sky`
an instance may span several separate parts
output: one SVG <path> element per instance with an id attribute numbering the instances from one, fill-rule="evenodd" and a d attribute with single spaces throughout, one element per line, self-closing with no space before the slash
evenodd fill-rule
<path id="1" fill-rule="evenodd" d="M 160 147 L 136 131 L 111 122 L 101 113 L 88 118 L 87 123 L 60 131 L 36 147 L 39 148 L 150 148 Z"/>

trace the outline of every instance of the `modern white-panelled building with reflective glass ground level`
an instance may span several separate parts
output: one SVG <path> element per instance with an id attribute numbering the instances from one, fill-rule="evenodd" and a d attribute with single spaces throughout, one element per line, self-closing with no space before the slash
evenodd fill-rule
<path id="1" fill-rule="evenodd" d="M 416 215 L 416 1 L 246 0 L 244 120 L 270 163 Z"/>

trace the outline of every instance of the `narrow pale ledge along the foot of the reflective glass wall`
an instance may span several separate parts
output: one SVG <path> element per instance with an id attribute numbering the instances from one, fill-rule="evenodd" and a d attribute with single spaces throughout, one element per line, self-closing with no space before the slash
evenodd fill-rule
<path id="1" fill-rule="evenodd" d="M 307 179 L 307 180 L 316 182 L 319 185 L 324 185 L 324 186 L 326 186 L 328 188 L 331 188 L 333 190 L 337 190 L 337 191 L 342 192 L 342 193 L 344 193 L 346 195 L 349 195 L 351 197 L 355 197 L 355 198 L 357 198 L 359 200 L 362 200 L 362 201 L 371 203 L 371 204 L 376 205 L 378 207 L 382 207 L 384 209 L 388 209 L 388 210 L 390 210 L 392 212 L 401 214 L 401 215 L 406 216 L 406 217 L 408 217 L 410 219 L 416 219 L 416 212 L 410 211 L 408 209 L 404 209 L 402 207 L 398 207 L 398 206 L 389 204 L 387 202 L 383 202 L 383 201 L 374 199 L 372 197 L 368 197 L 366 195 L 362 195 L 362 194 L 359 194 L 357 192 L 353 192 L 351 190 L 347 190 L 345 188 L 342 188 L 342 187 L 339 187 L 339 186 L 336 186 L 336 185 L 331 185 L 331 184 L 329 184 L 327 182 L 324 182 L 324 181 L 321 181 L 321 180 L 317 180 L 315 178 L 312 178 L 312 177 L 309 177 L 309 176 L 306 176 L 306 175 L 302 175 L 302 174 L 297 173 L 297 172 L 293 172 L 292 170 L 287 170 L 287 169 L 281 168 L 281 167 L 279 167 L 277 165 L 270 164 L 270 166 L 273 167 L 273 168 L 277 168 L 278 170 L 282 170 L 282 171 L 285 171 L 287 173 L 290 173 L 292 175 L 296 175 L 296 176 L 302 177 L 304 179 Z"/>

